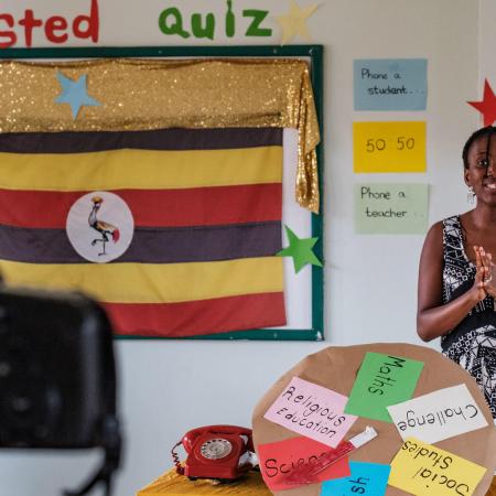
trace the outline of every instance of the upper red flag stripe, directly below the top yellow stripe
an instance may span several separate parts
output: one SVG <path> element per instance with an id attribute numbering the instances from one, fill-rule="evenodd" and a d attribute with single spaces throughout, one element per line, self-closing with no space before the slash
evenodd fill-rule
<path id="1" fill-rule="evenodd" d="M 0 224 L 65 228 L 74 202 L 87 193 L 0 190 Z M 134 224 L 142 227 L 244 224 L 280 220 L 282 215 L 281 183 L 112 193 L 128 204 Z"/>

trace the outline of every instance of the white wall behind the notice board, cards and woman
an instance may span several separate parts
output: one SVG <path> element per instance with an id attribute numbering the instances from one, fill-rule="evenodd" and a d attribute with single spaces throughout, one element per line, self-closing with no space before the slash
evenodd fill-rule
<path id="1" fill-rule="evenodd" d="M 22 12 L 24 8 L 33 8 L 40 13 L 71 15 L 86 10 L 89 1 L 66 3 L 2 0 L 0 11 Z M 214 11 L 225 6 L 223 0 L 100 0 L 99 45 L 195 43 L 191 39 L 183 42 L 164 36 L 157 28 L 157 19 L 166 7 L 175 4 L 183 12 L 187 9 L 201 12 L 206 3 Z M 285 0 L 234 3 L 237 9 L 268 6 L 272 15 L 288 9 Z M 299 0 L 299 3 L 312 2 Z M 353 185 L 364 181 L 427 182 L 432 185 L 431 224 L 467 208 L 461 149 L 479 125 L 477 112 L 465 103 L 478 99 L 482 93 L 478 4 L 475 0 L 321 0 L 309 26 L 313 41 L 325 46 L 326 342 L 117 342 L 127 441 L 117 495 L 132 495 L 169 468 L 170 449 L 187 429 L 209 423 L 248 425 L 258 398 L 308 354 L 328 345 L 419 343 L 417 268 L 423 237 L 355 235 Z M 492 13 L 494 20 L 496 12 Z M 271 20 L 269 25 L 274 28 L 272 39 L 249 40 L 241 33 L 229 43 L 278 43 L 277 24 Z M 226 41 L 218 39 L 215 43 Z M 41 40 L 37 44 L 46 45 Z M 428 110 L 355 112 L 353 60 L 366 57 L 427 57 Z M 427 120 L 427 174 L 353 173 L 352 122 L 374 119 Z M 60 487 L 77 484 L 96 461 L 95 454 L 3 452 L 0 494 L 55 495 Z"/>

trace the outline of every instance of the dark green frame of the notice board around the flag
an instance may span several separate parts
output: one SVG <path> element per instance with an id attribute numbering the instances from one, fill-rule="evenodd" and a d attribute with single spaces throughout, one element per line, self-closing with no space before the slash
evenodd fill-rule
<path id="1" fill-rule="evenodd" d="M 61 47 L 61 48 L 2 48 L 1 60 L 58 60 L 58 58 L 112 58 L 112 57 L 294 57 L 310 61 L 310 75 L 313 86 L 321 137 L 323 137 L 323 46 L 131 46 L 131 47 Z M 316 149 L 319 163 L 319 190 L 322 209 L 322 175 L 324 147 Z M 323 213 L 311 214 L 312 237 L 319 240 L 313 250 L 317 258 L 323 257 Z M 115 336 L 119 339 L 164 339 L 162 337 Z M 186 337 L 185 339 L 266 339 L 266 341 L 322 341 L 324 338 L 324 276 L 323 268 L 312 266 L 312 326 L 311 328 L 261 328 L 214 335 Z M 165 339 L 168 339 L 165 337 Z"/>

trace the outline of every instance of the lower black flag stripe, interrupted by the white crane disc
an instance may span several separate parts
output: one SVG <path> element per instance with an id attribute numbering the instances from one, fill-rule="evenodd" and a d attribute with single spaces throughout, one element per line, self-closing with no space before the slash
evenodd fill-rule
<path id="1" fill-rule="evenodd" d="M 95 231 L 95 239 L 99 234 Z M 114 241 L 109 240 L 109 245 Z M 95 250 L 101 249 L 101 244 Z M 282 249 L 281 223 L 134 229 L 115 262 L 181 263 L 270 257 Z M 0 259 L 31 263 L 85 263 L 65 229 L 0 226 Z"/>

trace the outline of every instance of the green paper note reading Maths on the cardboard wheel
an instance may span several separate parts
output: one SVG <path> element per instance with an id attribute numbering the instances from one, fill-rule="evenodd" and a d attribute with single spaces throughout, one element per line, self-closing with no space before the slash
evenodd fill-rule
<path id="1" fill-rule="evenodd" d="M 345 412 L 391 422 L 386 409 L 410 399 L 423 362 L 381 353 L 366 353 Z"/>

